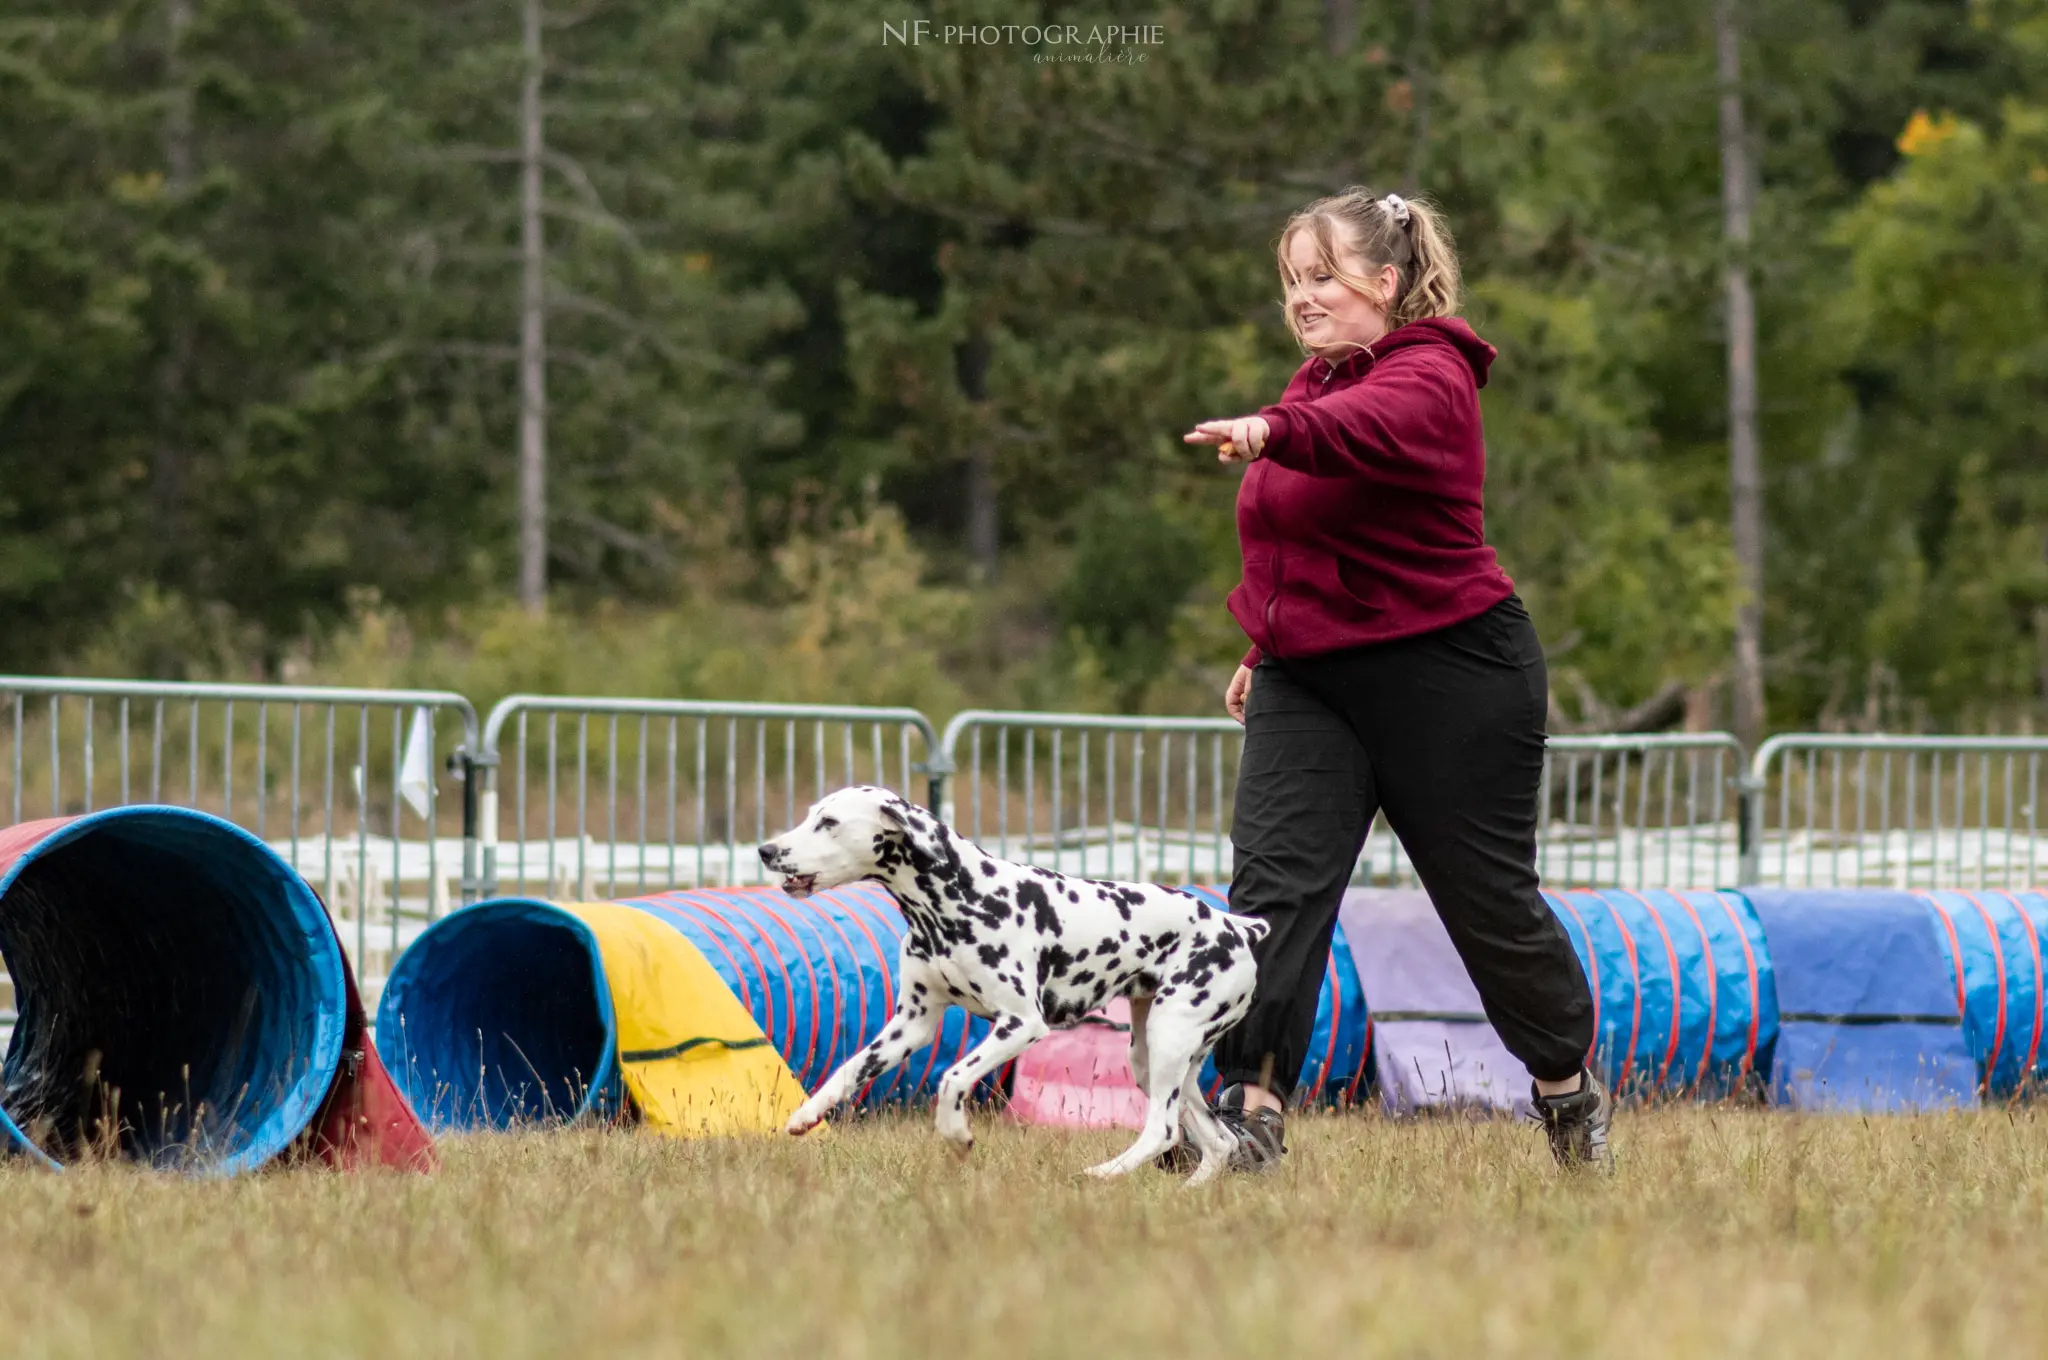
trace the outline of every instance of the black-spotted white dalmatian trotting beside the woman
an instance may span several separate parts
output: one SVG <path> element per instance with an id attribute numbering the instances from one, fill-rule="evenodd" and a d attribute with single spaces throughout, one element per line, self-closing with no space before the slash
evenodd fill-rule
<path id="1" fill-rule="evenodd" d="M 1231 1135 L 1210 1114 L 1198 1077 L 1217 1036 L 1251 1008 L 1251 946 L 1266 922 L 1167 887 L 1008 864 L 872 787 L 827 795 L 760 854 L 791 897 L 881 883 L 909 926 L 895 1014 L 791 1116 L 788 1133 L 815 1129 L 864 1081 L 930 1045 L 946 1008 L 961 1006 L 995 1022 L 938 1086 L 938 1133 L 967 1153 L 975 1083 L 1120 995 L 1130 1000 L 1130 1073 L 1145 1092 L 1145 1129 L 1090 1174 L 1122 1176 L 1182 1135 L 1202 1155 L 1192 1184 L 1229 1163 Z"/>

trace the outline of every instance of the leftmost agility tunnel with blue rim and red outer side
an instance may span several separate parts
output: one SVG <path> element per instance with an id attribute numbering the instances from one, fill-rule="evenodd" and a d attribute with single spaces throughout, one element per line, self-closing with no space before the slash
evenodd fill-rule
<path id="1" fill-rule="evenodd" d="M 14 1153 L 432 1165 L 326 907 L 227 821 L 143 805 L 0 832 L 0 954 Z"/>

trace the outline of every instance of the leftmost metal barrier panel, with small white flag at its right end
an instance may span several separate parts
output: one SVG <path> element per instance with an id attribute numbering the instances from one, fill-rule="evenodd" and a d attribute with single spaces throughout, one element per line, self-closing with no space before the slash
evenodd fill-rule
<path id="1" fill-rule="evenodd" d="M 0 676 L 0 705 L 10 821 L 127 803 L 225 817 L 319 889 L 362 973 L 477 895 L 477 713 L 461 694 Z"/>

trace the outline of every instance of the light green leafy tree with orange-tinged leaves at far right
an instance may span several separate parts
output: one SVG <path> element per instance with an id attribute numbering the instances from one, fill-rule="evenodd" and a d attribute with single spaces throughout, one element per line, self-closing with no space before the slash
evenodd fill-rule
<path id="1" fill-rule="evenodd" d="M 2005 20 L 2048 74 L 2048 8 Z M 1864 395 L 1833 481 L 1898 526 L 1864 655 L 1950 715 L 2048 686 L 2048 88 L 2028 88 L 1987 121 L 1915 113 L 1898 172 L 1837 227 Z"/>

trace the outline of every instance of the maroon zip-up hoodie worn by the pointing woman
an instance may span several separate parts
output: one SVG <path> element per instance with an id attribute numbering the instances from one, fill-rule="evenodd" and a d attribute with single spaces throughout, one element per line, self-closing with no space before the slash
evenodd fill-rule
<path id="1" fill-rule="evenodd" d="M 1493 346 L 1458 317 L 1311 358 L 1237 487 L 1231 614 L 1260 655 L 1300 657 L 1462 623 L 1513 592 L 1487 547 L 1479 389 Z"/>

